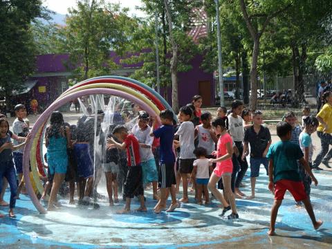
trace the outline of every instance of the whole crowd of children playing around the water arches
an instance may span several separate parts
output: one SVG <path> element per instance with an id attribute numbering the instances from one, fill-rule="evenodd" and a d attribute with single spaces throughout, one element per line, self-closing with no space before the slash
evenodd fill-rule
<path id="1" fill-rule="evenodd" d="M 296 205 L 304 204 L 314 228 L 320 228 L 322 221 L 315 219 L 310 201 L 311 182 L 317 185 L 311 168 L 319 169 L 321 162 L 328 165 L 326 162 L 332 156 L 332 150 L 327 154 L 332 144 L 331 91 L 324 92 L 322 101 L 324 105 L 317 118 L 304 108 L 302 126 L 297 125 L 295 113 L 286 113 L 285 122 L 277 124 L 280 141 L 273 145 L 263 113 L 245 109 L 240 100 L 234 100 L 230 110 L 219 107 L 217 117 L 212 120 L 211 113 L 202 113 L 202 98 L 196 95 L 191 104 L 181 107 L 178 123 L 171 110 L 161 111 L 161 126 L 157 117 L 149 116 L 137 105 L 136 108 L 133 105 L 135 112 L 131 114 L 131 118 L 137 119 L 136 124 L 127 124 L 113 113 L 113 123 L 107 129 L 102 129 L 103 111 L 92 114 L 88 110 L 89 114 L 82 116 L 77 125 L 65 123 L 62 113 L 55 111 L 45 133 L 47 174 L 40 175 L 44 192 L 38 197 L 48 201 L 48 211 L 61 208 L 57 195 L 66 182 L 69 203 L 74 204 L 76 183 L 77 205 L 99 208 L 96 200 L 101 197 L 97 190 L 104 172 L 109 205 L 119 203 L 118 193 L 122 193 L 124 208 L 118 211 L 120 214 L 130 212 L 131 199 L 135 196 L 140 201 L 137 211 L 146 212 L 145 189 L 151 185 L 156 214 L 163 210 L 173 212 L 180 202 L 191 202 L 188 192 L 194 192 L 197 204 L 209 205 L 211 199 L 216 199 L 221 203 L 219 216 L 239 219 L 235 199 L 255 199 L 259 194 L 255 192 L 256 179 L 264 165 L 269 178 L 267 187 L 275 194 L 268 234 L 275 234 L 277 212 L 286 190 L 293 194 Z M 0 117 L 0 192 L 6 189 L 6 178 L 11 192 L 10 217 L 15 217 L 13 209 L 22 188 L 20 184 L 17 190 L 16 175 L 18 183 L 24 181 L 22 148 L 29 139 L 24 105 L 17 105 L 15 113 L 13 131 L 9 130 L 6 118 Z M 322 148 L 312 160 L 311 134 L 316 130 Z M 96 145 L 100 149 L 95 149 Z M 241 191 L 249 167 L 248 156 L 250 196 Z M 183 192 L 177 199 L 181 183 Z M 172 201 L 167 206 L 169 195 Z M 2 197 L 3 194 L 0 205 L 8 205 Z"/>

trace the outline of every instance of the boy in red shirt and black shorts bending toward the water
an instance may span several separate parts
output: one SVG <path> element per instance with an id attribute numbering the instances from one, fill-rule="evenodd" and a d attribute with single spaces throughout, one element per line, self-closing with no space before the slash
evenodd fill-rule
<path id="1" fill-rule="evenodd" d="M 124 198 L 126 199 L 126 204 L 123 210 L 117 212 L 118 214 L 125 214 L 130 212 L 130 202 L 133 196 L 138 196 L 140 199 L 140 208 L 137 209 L 139 212 L 146 212 L 144 201 L 144 189 L 142 184 L 142 166 L 140 165 L 140 145 L 138 140 L 132 134 L 128 134 L 128 130 L 123 125 L 118 125 L 113 130 L 113 135 L 120 140 L 116 142 L 114 138 L 108 138 L 107 148 L 113 149 L 114 147 L 118 149 L 127 150 L 127 163 L 128 163 L 128 173 L 126 181 L 124 182 Z"/>

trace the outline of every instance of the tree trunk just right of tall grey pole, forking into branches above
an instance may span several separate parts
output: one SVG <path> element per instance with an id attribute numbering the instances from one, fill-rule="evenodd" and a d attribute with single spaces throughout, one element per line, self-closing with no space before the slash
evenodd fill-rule
<path id="1" fill-rule="evenodd" d="M 250 68 L 250 102 L 249 107 L 250 110 L 255 111 L 257 109 L 257 62 L 258 62 L 258 54 L 259 54 L 259 37 L 255 37 L 254 39 L 254 48 L 252 50 L 252 60 L 251 60 L 251 68 Z"/>

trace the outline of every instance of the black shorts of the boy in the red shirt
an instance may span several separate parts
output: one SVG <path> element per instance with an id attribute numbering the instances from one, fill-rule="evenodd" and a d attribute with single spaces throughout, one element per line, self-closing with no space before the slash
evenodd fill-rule
<path id="1" fill-rule="evenodd" d="M 123 196 L 133 198 L 134 196 L 144 195 L 142 181 L 142 166 L 136 165 L 128 167 L 126 181 L 123 187 Z"/>

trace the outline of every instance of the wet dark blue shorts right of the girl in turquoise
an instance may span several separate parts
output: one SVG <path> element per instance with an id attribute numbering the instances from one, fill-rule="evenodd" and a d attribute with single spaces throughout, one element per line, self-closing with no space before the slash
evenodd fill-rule
<path id="1" fill-rule="evenodd" d="M 77 162 L 78 176 L 84 178 L 93 176 L 93 159 L 89 151 L 89 144 L 75 144 L 74 154 Z"/>

